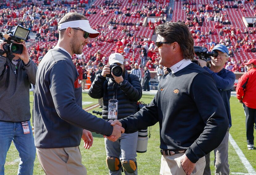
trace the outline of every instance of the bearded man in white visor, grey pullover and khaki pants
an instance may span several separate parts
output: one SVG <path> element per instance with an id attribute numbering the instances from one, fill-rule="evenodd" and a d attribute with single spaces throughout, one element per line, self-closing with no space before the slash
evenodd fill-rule
<path id="1" fill-rule="evenodd" d="M 124 129 L 82 109 L 82 87 L 71 55 L 81 54 L 89 38 L 96 38 L 99 32 L 91 28 L 85 16 L 75 12 L 60 19 L 58 30 L 59 41 L 43 57 L 36 76 L 36 153 L 47 175 L 85 175 L 79 149 L 81 139 L 85 149 L 89 149 L 93 144 L 90 131 L 113 135 L 109 139 L 116 141 Z"/>

